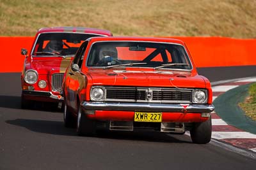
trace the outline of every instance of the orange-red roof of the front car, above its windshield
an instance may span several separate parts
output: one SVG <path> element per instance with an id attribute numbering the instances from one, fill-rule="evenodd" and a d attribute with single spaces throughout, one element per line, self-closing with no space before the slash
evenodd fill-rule
<path id="1" fill-rule="evenodd" d="M 184 42 L 173 38 L 157 38 L 157 37 L 132 37 L 132 36 L 113 36 L 113 37 L 93 37 L 89 38 L 92 43 L 97 41 L 147 41 L 159 43 L 175 43 L 184 45 Z"/>

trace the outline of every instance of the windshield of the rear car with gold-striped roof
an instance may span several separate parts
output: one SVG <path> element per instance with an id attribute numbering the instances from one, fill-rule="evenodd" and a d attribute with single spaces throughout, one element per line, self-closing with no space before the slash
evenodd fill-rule
<path id="1" fill-rule="evenodd" d="M 75 55 L 79 46 L 87 38 L 99 36 L 74 32 L 42 33 L 33 47 L 33 57 L 61 57 Z"/>

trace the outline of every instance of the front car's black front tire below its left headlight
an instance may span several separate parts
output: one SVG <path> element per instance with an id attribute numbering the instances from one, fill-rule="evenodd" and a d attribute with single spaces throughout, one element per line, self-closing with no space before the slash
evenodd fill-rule
<path id="1" fill-rule="evenodd" d="M 93 136 L 96 132 L 96 124 L 94 120 L 86 117 L 81 106 L 77 113 L 77 134 L 79 136 Z"/>

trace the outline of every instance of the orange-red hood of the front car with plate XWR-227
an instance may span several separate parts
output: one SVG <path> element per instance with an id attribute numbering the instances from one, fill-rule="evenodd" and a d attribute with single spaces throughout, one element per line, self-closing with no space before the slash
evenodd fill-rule
<path id="1" fill-rule="evenodd" d="M 205 88 L 205 81 L 197 73 L 186 71 L 127 71 L 92 70 L 93 85 L 136 87 Z"/>

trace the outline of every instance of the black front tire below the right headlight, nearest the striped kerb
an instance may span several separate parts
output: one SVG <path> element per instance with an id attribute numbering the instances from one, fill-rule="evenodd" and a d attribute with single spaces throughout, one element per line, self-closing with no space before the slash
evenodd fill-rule
<path id="1" fill-rule="evenodd" d="M 190 137 L 193 143 L 206 144 L 211 141 L 212 136 L 212 119 L 211 117 L 200 123 L 195 123 L 194 127 L 190 130 Z"/>

